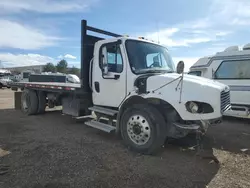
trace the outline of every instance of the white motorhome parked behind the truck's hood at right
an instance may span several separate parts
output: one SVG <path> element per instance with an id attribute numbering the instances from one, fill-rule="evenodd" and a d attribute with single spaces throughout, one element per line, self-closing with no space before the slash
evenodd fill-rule
<path id="1" fill-rule="evenodd" d="M 232 110 L 225 115 L 250 118 L 250 43 L 241 50 L 238 46 L 231 46 L 214 56 L 200 58 L 188 74 L 228 85 Z"/>

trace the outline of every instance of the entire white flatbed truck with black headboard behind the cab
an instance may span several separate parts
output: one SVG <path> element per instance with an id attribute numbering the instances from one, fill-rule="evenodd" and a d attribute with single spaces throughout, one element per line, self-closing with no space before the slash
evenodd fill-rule
<path id="1" fill-rule="evenodd" d="M 166 138 L 205 133 L 230 109 L 228 86 L 184 75 L 183 62 L 176 71 L 164 46 L 90 27 L 86 20 L 81 30 L 81 83 L 12 83 L 13 90 L 23 91 L 25 114 L 44 113 L 46 106 L 62 106 L 74 117 L 94 113 L 86 125 L 115 131 L 130 149 L 152 154 Z"/>

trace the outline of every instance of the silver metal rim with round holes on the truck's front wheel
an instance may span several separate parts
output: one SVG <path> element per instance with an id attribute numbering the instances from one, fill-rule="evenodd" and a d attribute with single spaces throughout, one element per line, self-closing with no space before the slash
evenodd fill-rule
<path id="1" fill-rule="evenodd" d="M 148 121 L 141 115 L 131 116 L 127 123 L 129 138 L 137 145 L 144 145 L 150 139 L 151 129 Z"/>

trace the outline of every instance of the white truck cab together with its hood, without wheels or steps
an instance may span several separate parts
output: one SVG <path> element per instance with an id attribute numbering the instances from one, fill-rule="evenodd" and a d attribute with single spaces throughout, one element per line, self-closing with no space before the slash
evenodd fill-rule
<path id="1" fill-rule="evenodd" d="M 211 109 L 213 113 L 192 114 L 183 103 L 202 101 L 212 107 L 220 104 L 221 93 L 229 92 L 226 85 L 208 79 L 191 75 L 182 78 L 176 73 L 168 49 L 144 39 L 121 37 L 97 42 L 90 72 L 94 105 L 119 108 L 133 97 L 162 101 L 185 120 L 218 118 L 220 108 Z M 210 99 L 209 95 L 213 97 Z"/>

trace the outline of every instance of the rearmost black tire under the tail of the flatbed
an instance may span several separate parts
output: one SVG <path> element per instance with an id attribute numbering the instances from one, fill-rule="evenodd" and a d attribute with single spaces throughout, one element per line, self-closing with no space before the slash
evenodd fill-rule
<path id="1" fill-rule="evenodd" d="M 21 96 L 21 110 L 26 115 L 35 115 L 38 110 L 38 97 L 35 91 L 24 90 Z"/>

